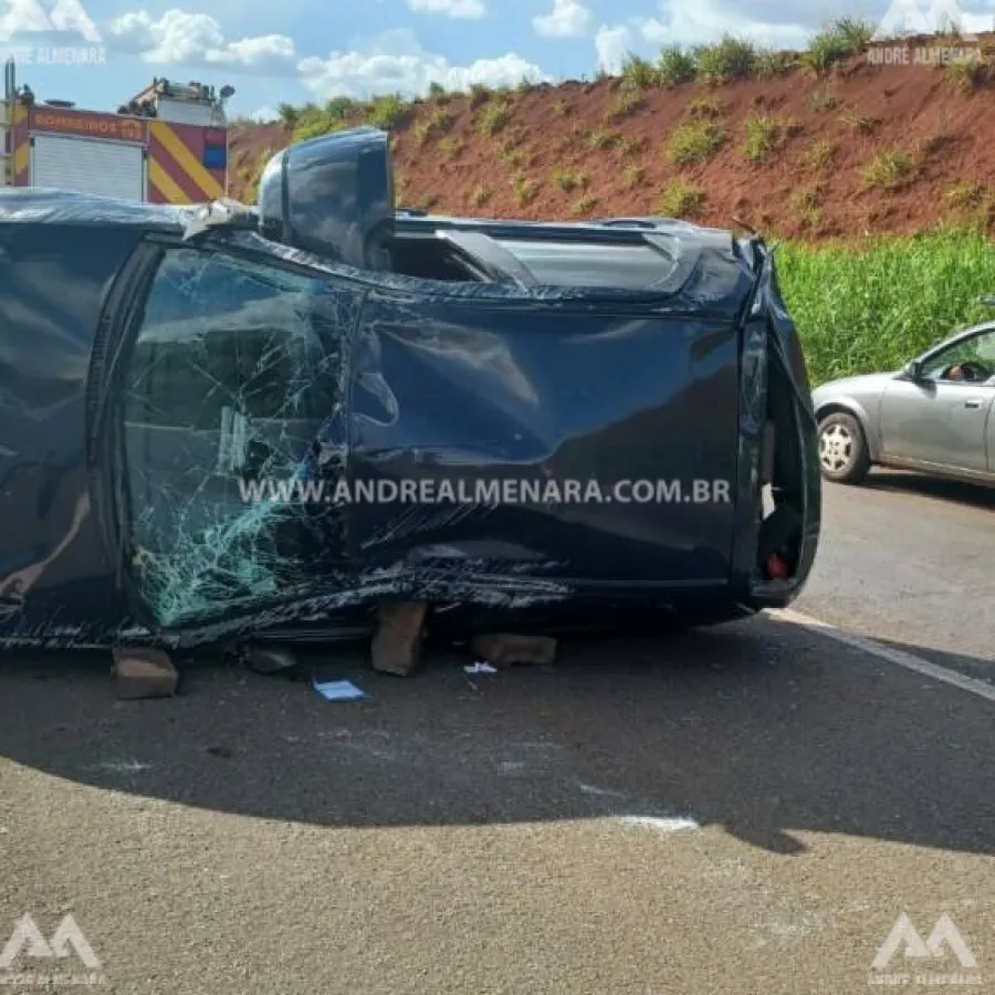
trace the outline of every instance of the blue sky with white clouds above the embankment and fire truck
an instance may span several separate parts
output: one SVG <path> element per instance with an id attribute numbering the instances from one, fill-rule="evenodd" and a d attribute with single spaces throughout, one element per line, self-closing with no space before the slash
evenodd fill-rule
<path id="1" fill-rule="evenodd" d="M 915 12 L 917 0 L 891 2 Z M 923 17 L 935 4 L 957 9 L 918 0 Z M 100 44 L 64 28 L 56 8 L 62 17 L 75 8 L 77 24 L 88 19 Z M 432 81 L 589 77 L 616 71 L 627 51 L 651 56 L 726 31 L 797 48 L 834 17 L 877 23 L 888 10 L 889 0 L 0 0 L 0 46 L 22 56 L 19 81 L 42 100 L 114 111 L 158 75 L 230 83 L 232 113 L 265 116 L 284 101 L 415 94 Z M 995 25 L 995 0 L 961 0 L 960 12 L 967 29 Z M 40 62 L 46 48 L 81 45 L 100 49 L 104 63 Z"/>

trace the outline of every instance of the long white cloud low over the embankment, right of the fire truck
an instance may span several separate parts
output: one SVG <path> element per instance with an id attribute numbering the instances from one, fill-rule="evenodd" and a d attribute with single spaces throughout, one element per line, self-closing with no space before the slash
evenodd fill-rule
<path id="1" fill-rule="evenodd" d="M 549 78 L 513 52 L 453 65 L 443 55 L 422 49 L 407 29 L 388 31 L 352 51 L 333 52 L 327 59 L 305 59 L 300 71 L 304 85 L 321 100 L 394 92 L 423 94 L 430 83 L 447 90 L 468 90 L 473 83 L 498 87 L 514 86 L 525 77 L 534 82 Z"/>

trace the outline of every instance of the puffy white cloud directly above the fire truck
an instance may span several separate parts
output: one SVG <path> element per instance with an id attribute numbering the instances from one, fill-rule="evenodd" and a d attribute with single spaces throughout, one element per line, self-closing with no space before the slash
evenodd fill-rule
<path id="1" fill-rule="evenodd" d="M 111 22 L 109 40 L 158 65 L 221 65 L 258 72 L 292 73 L 297 54 L 285 34 L 226 41 L 210 14 L 168 10 L 158 20 L 142 10 Z"/>

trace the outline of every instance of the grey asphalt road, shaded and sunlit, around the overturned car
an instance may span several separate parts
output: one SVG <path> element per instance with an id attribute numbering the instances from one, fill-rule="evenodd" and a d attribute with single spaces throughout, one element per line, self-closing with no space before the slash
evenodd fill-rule
<path id="1" fill-rule="evenodd" d="M 984 677 L 991 507 L 897 485 L 828 491 L 799 607 Z M 983 694 L 769 618 L 472 680 L 308 662 L 369 699 L 218 664 L 119 703 L 102 660 L 0 669 L 0 961 L 20 917 L 51 939 L 72 912 L 128 995 L 995 992 Z M 946 913 L 967 966 L 903 943 L 874 968 L 902 912 L 923 941 Z"/>

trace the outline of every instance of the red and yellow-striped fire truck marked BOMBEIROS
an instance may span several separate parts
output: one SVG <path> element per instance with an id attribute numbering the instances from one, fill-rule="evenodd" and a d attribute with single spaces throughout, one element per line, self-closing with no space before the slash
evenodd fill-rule
<path id="1" fill-rule="evenodd" d="M 228 122 L 220 93 L 155 78 L 116 114 L 38 101 L 8 60 L 0 109 L 2 186 L 55 187 L 151 203 L 228 193 Z"/>

